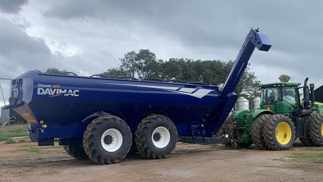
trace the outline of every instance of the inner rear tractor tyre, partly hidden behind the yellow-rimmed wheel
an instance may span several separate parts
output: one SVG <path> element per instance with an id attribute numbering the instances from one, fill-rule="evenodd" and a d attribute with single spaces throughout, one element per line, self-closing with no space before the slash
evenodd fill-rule
<path id="1" fill-rule="evenodd" d="M 263 140 L 262 136 L 262 128 L 265 124 L 266 119 L 268 119 L 271 115 L 270 114 L 262 114 L 256 117 L 251 126 L 251 139 L 253 143 L 259 149 L 267 149 L 266 143 Z"/>

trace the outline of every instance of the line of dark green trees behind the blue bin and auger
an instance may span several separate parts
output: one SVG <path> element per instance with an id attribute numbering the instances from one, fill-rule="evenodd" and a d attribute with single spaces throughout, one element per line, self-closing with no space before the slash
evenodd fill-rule
<path id="1" fill-rule="evenodd" d="M 130 51 L 120 58 L 119 67 L 108 68 L 102 75 L 110 78 L 121 76 L 136 77 L 139 79 L 157 78 L 161 80 L 182 80 L 188 82 L 201 82 L 211 85 L 225 83 L 234 61 L 221 60 L 192 60 L 185 58 L 171 58 L 169 60 L 157 59 L 156 54 L 149 49 L 140 49 L 138 52 Z M 65 70 L 64 70 L 65 71 Z M 49 68 L 45 73 L 59 74 L 56 68 Z M 247 99 L 260 95 L 258 86 L 260 81 L 250 70 L 248 64 L 242 75 L 236 93 Z"/>

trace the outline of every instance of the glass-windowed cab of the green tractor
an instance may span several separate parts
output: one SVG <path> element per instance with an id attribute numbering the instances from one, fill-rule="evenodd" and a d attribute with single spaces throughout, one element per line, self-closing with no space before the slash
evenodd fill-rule
<path id="1" fill-rule="evenodd" d="M 301 109 L 300 85 L 300 83 L 261 85 L 260 109 L 267 109 L 280 114 L 289 114 L 294 112 L 295 109 Z"/>

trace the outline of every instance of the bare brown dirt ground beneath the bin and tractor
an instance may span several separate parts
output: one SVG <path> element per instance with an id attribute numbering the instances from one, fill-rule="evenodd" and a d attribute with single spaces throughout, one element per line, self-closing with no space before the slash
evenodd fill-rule
<path id="1" fill-rule="evenodd" d="M 131 155 L 117 164 L 97 165 L 70 157 L 61 146 L 2 142 L 0 182 L 322 182 L 322 163 L 290 157 L 320 150 L 301 144 L 288 151 L 267 151 L 178 143 L 167 159 Z"/>

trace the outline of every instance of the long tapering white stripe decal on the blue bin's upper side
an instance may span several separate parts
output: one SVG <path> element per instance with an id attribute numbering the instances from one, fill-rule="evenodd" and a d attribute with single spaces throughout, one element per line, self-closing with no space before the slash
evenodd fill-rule
<path id="1" fill-rule="evenodd" d="M 102 83 L 102 82 L 100 82 L 100 83 L 101 84 L 111 84 L 111 83 Z M 207 95 L 211 91 L 214 91 L 214 90 L 209 90 L 209 89 L 198 89 L 197 91 L 195 91 L 196 89 L 192 89 L 192 88 L 181 88 L 180 90 L 178 90 L 179 87 L 147 86 L 147 85 L 132 85 L 132 84 L 111 84 L 111 85 L 162 89 L 164 91 L 173 91 L 173 92 L 176 92 L 176 93 L 182 93 L 182 94 L 194 96 L 194 97 L 197 97 L 197 98 L 202 98 L 203 96 Z M 178 90 L 178 91 L 176 91 L 176 90 Z M 191 93 L 193 91 L 195 91 L 195 92 Z"/>

